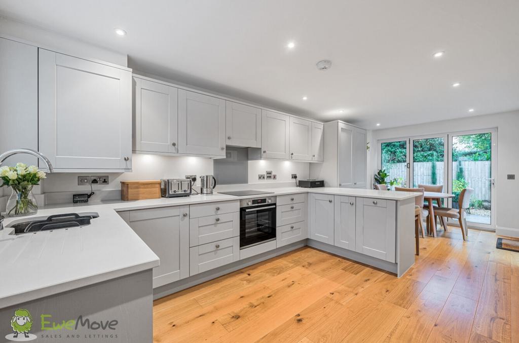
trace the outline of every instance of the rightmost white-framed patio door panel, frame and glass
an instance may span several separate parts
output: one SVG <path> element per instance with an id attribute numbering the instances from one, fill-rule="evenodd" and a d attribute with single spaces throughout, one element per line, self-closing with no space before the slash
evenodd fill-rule
<path id="1" fill-rule="evenodd" d="M 466 211 L 468 225 L 492 230 L 496 228 L 496 134 L 491 129 L 448 135 L 448 192 L 454 194 L 449 207 L 458 207 L 461 189 L 473 188 L 470 208 Z"/>

